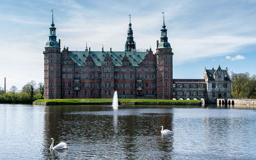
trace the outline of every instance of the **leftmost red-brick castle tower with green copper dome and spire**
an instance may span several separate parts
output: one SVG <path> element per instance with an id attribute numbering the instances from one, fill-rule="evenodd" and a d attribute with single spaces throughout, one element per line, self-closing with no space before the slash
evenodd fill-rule
<path id="1" fill-rule="evenodd" d="M 53 22 L 49 40 L 44 51 L 44 99 L 61 99 L 61 52 L 60 40 L 56 41 L 56 28 Z"/>

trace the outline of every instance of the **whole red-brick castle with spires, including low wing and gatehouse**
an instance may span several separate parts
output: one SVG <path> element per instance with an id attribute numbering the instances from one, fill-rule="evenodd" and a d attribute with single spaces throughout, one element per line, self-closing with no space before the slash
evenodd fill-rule
<path id="1" fill-rule="evenodd" d="M 69 51 L 56 40 L 53 14 L 44 51 L 44 99 L 204 99 L 231 97 L 227 68 L 204 70 L 204 79 L 173 79 L 173 52 L 161 28 L 156 53 L 136 51 L 131 17 L 124 51 Z"/>

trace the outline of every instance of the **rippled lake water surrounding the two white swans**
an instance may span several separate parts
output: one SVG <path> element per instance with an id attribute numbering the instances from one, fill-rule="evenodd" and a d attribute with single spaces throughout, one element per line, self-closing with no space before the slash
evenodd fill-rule
<path id="1" fill-rule="evenodd" d="M 173 131 L 161 135 L 161 125 Z M 256 110 L 0 104 L 0 159 L 254 159 Z M 49 150 L 67 143 L 65 152 Z"/>

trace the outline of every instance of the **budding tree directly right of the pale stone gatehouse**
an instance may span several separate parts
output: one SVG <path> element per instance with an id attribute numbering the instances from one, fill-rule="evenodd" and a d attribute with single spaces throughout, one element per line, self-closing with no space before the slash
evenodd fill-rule
<path id="1" fill-rule="evenodd" d="M 244 88 L 248 84 L 250 74 L 248 72 L 246 73 L 240 73 L 235 74 L 232 72 L 231 76 L 231 83 L 232 83 L 232 92 L 234 95 L 237 95 L 237 98 L 239 99 L 239 95 L 241 92 L 244 91 Z"/>

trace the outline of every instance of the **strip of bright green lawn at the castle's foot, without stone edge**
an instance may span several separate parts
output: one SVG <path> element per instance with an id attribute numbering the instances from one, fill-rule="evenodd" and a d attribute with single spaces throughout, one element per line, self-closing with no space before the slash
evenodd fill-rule
<path id="1" fill-rule="evenodd" d="M 70 103 L 102 103 L 113 99 L 38 99 L 35 102 L 70 102 Z M 200 100 L 165 100 L 165 99 L 118 99 L 118 102 L 201 102 Z"/>

